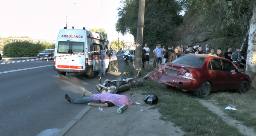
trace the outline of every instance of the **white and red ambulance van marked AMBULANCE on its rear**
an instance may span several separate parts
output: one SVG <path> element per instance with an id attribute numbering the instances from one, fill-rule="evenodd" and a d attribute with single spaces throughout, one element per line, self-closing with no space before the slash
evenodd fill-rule
<path id="1" fill-rule="evenodd" d="M 108 49 L 101 34 L 83 29 L 61 29 L 54 51 L 54 70 L 59 76 L 66 73 L 86 73 L 93 78 L 101 67 L 100 50 Z M 110 58 L 106 51 L 106 71 L 111 71 Z"/>

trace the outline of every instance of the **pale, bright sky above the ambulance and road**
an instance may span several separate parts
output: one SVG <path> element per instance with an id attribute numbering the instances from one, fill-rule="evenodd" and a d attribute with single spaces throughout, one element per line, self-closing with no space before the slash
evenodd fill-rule
<path id="1" fill-rule="evenodd" d="M 108 40 L 134 42 L 131 34 L 116 32 L 120 0 L 1 0 L 0 37 L 28 36 L 56 40 L 66 26 L 87 30 L 104 28 Z"/>

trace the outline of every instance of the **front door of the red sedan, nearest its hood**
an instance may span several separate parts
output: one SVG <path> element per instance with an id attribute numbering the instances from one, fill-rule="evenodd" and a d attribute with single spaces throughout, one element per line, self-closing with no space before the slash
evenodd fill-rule
<path id="1" fill-rule="evenodd" d="M 221 59 L 221 61 L 226 89 L 233 90 L 239 88 L 239 85 L 241 84 L 240 73 L 236 72 L 236 67 L 229 60 Z"/>

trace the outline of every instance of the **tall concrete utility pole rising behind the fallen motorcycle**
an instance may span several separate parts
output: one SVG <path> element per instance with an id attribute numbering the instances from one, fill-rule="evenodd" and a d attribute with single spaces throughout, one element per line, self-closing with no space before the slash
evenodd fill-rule
<path id="1" fill-rule="evenodd" d="M 136 44 L 143 44 L 144 14 L 145 14 L 145 0 L 140 0 L 138 23 L 137 23 Z M 135 58 L 134 58 L 135 68 L 137 68 L 139 71 L 142 71 L 142 64 L 141 64 L 141 49 L 142 49 L 142 46 L 143 45 L 136 47 Z M 141 73 L 139 74 L 139 77 L 140 76 L 141 76 Z"/>

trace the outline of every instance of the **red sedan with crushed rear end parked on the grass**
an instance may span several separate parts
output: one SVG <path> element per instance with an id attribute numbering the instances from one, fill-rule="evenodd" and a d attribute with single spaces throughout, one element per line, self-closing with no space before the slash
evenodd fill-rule
<path id="1" fill-rule="evenodd" d="M 217 90 L 238 90 L 241 94 L 250 86 L 250 77 L 233 62 L 204 54 L 185 54 L 171 63 L 162 63 L 158 71 L 151 71 L 143 79 L 148 77 L 167 87 L 193 91 L 199 98 Z"/>

